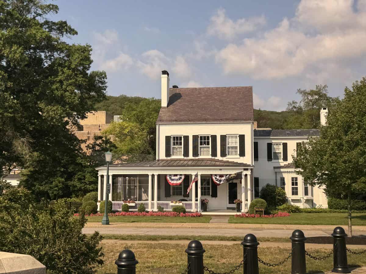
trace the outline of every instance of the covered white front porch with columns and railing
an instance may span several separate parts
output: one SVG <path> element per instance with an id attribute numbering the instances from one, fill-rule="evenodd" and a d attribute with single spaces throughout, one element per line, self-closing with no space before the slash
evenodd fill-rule
<path id="1" fill-rule="evenodd" d="M 98 167 L 98 200 L 104 200 L 107 187 L 107 168 Z M 202 199 L 208 199 L 208 212 L 235 209 L 235 199 L 242 199 L 246 212 L 252 199 L 252 167 L 232 161 L 216 159 L 156 160 L 139 163 L 112 164 L 109 181 L 112 182 L 109 200 L 113 210 L 120 211 L 128 203 L 131 211 L 143 203 L 148 211 L 171 211 L 182 205 L 189 212 L 201 212 Z M 171 185 L 167 175 L 183 175 L 178 185 Z M 195 175 L 190 191 L 187 190 Z M 217 185 L 212 175 L 235 174 L 235 178 Z M 134 201 L 134 202 L 132 202 Z"/>

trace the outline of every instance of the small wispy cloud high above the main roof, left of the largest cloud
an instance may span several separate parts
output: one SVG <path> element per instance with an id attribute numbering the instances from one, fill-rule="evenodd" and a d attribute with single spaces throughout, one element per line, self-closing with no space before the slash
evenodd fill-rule
<path id="1" fill-rule="evenodd" d="M 218 36 L 221 39 L 232 39 L 237 34 L 253 32 L 266 24 L 263 15 L 248 19 L 242 18 L 234 22 L 225 15 L 223 8 L 219 8 L 210 20 L 211 23 L 207 28 L 208 35 Z"/>

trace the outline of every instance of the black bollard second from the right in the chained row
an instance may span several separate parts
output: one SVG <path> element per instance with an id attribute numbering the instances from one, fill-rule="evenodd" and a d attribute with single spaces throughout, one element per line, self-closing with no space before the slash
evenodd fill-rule
<path id="1" fill-rule="evenodd" d="M 291 274 L 306 274 L 304 232 L 296 229 L 290 237 L 292 242 Z"/>

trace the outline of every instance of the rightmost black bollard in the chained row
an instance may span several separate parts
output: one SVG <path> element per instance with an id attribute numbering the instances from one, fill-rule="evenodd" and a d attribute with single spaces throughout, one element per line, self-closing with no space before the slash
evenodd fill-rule
<path id="1" fill-rule="evenodd" d="M 332 233 L 333 236 L 333 269 L 336 273 L 351 273 L 348 269 L 346 237 L 347 234 L 341 227 L 336 227 Z"/>

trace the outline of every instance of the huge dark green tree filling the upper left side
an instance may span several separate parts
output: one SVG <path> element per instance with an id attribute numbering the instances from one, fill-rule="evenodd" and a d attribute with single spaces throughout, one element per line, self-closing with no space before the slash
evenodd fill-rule
<path id="1" fill-rule="evenodd" d="M 22 184 L 47 198 L 75 189 L 85 155 L 70 128 L 107 87 L 105 72 L 90 71 L 91 46 L 67 43 L 76 30 L 48 19 L 57 12 L 42 0 L 0 0 L 0 165 L 23 166 Z"/>

